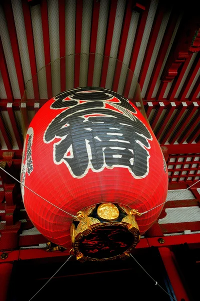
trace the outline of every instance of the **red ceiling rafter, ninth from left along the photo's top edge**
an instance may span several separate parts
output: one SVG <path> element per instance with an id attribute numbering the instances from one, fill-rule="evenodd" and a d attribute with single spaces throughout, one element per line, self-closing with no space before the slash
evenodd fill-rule
<path id="1" fill-rule="evenodd" d="M 129 70 L 127 71 L 125 85 L 124 85 L 124 89 L 123 89 L 123 95 L 126 98 L 128 97 L 128 94 L 129 94 L 132 77 L 133 77 L 135 65 L 137 62 L 138 53 L 139 53 L 139 49 L 140 49 L 140 45 L 141 45 L 141 40 L 143 37 L 143 32 L 144 32 L 144 28 L 145 28 L 145 24 L 146 24 L 146 19 L 148 16 L 149 6 L 150 6 L 150 1 L 147 2 L 145 11 L 143 11 L 140 14 L 137 29 L 136 29 L 135 38 L 134 38 L 134 42 L 133 42 L 133 46 L 132 46 L 130 63 L 129 63 Z"/>

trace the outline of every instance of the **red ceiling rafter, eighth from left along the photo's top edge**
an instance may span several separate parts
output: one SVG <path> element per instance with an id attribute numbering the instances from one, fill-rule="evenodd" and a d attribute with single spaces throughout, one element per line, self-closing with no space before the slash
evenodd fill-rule
<path id="1" fill-rule="evenodd" d="M 131 16 L 132 16 L 132 1 L 128 0 L 125 7 L 125 15 L 123 18 L 123 25 L 122 25 L 121 36 L 119 41 L 117 61 L 115 65 L 114 78 L 112 83 L 112 91 L 115 92 L 117 92 L 119 78 L 121 74 L 122 62 L 125 53 L 125 47 L 126 47 L 128 31 L 130 27 Z"/>

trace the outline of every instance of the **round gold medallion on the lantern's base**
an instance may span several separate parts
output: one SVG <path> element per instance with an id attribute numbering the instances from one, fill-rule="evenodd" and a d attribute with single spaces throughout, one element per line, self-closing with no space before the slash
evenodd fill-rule
<path id="1" fill-rule="evenodd" d="M 107 221 L 114 221 L 119 216 L 118 208 L 112 203 L 103 203 L 98 206 L 97 215 Z"/>

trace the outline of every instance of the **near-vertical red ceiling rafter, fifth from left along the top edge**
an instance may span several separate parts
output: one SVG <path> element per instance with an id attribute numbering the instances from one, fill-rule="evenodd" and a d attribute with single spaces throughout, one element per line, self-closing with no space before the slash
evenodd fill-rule
<path id="1" fill-rule="evenodd" d="M 79 87 L 80 77 L 80 52 L 82 32 L 82 0 L 76 0 L 75 9 L 75 58 L 74 58 L 74 88 Z"/>

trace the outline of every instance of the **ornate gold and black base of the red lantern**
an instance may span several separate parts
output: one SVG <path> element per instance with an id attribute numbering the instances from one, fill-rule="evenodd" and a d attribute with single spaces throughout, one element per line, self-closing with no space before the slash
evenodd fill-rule
<path id="1" fill-rule="evenodd" d="M 70 233 L 73 251 L 81 262 L 125 259 L 140 238 L 133 211 L 113 203 L 79 211 Z"/>

